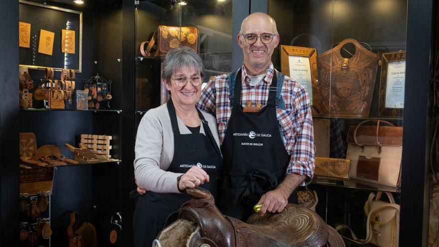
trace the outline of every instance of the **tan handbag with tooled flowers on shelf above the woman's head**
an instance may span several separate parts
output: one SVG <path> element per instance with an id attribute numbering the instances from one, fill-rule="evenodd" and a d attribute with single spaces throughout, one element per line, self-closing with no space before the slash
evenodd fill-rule
<path id="1" fill-rule="evenodd" d="M 196 27 L 159 25 L 151 40 L 140 44 L 140 53 L 143 56 L 164 56 L 171 49 L 180 46 L 189 46 L 198 52 L 198 36 Z M 153 48 L 156 50 L 151 52 Z"/>

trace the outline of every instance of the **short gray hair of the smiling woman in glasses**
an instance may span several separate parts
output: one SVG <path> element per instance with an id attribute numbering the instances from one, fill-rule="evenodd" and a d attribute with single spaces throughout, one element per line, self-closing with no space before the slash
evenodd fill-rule
<path id="1" fill-rule="evenodd" d="M 162 78 L 169 81 L 171 76 L 181 70 L 183 67 L 193 68 L 204 77 L 204 65 L 200 55 L 192 48 L 182 46 L 172 49 L 166 54 L 163 62 Z"/>

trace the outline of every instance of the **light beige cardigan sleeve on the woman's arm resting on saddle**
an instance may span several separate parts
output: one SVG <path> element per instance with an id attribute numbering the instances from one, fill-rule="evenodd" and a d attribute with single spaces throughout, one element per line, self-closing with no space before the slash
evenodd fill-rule
<path id="1" fill-rule="evenodd" d="M 137 183 L 148 191 L 180 193 L 177 177 L 180 173 L 167 172 L 160 168 L 163 147 L 163 129 L 160 120 L 145 115 L 137 130 L 134 174 Z"/>

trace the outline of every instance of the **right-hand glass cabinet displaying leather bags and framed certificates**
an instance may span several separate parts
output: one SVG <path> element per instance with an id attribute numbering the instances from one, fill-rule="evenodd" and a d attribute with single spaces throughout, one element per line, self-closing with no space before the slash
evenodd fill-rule
<path id="1" fill-rule="evenodd" d="M 398 246 L 407 0 L 269 0 L 268 14 L 273 64 L 312 105 L 317 212 L 348 246 Z"/>

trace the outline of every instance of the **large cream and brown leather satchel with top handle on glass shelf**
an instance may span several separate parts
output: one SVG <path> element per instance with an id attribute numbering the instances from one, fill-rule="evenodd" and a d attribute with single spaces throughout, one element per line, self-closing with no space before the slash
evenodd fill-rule
<path id="1" fill-rule="evenodd" d="M 364 126 L 365 120 L 348 131 L 350 177 L 375 184 L 400 187 L 403 127 L 378 120 L 376 126 Z M 380 123 L 391 126 L 380 126 Z"/>

